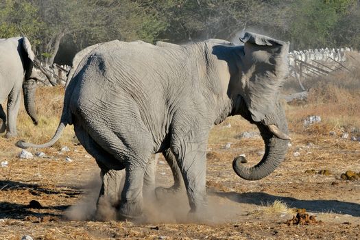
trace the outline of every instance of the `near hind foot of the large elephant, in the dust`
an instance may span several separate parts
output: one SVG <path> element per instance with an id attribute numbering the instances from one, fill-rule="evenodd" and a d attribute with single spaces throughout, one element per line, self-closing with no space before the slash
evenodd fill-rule
<path id="1" fill-rule="evenodd" d="M 145 219 L 143 215 L 143 205 L 134 202 L 121 202 L 119 210 L 117 211 L 117 219 L 120 221 L 143 221 Z"/>

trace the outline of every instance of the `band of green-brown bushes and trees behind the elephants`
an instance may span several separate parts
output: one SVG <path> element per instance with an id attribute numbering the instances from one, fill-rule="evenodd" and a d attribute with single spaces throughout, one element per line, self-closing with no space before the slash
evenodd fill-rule
<path id="1" fill-rule="evenodd" d="M 292 49 L 360 49 L 357 0 L 3 0 L 0 38 L 25 35 L 41 60 L 70 64 L 108 40 L 237 40 L 243 29 L 289 40 Z M 59 54 L 57 56 L 58 50 Z"/>

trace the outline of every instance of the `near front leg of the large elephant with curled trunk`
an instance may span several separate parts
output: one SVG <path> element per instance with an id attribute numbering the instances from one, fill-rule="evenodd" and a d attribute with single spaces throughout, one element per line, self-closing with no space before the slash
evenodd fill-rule
<path id="1" fill-rule="evenodd" d="M 180 147 L 178 147 L 180 146 Z M 203 219 L 206 213 L 206 141 L 183 142 L 173 147 L 184 178 L 190 204 L 191 220 Z"/>

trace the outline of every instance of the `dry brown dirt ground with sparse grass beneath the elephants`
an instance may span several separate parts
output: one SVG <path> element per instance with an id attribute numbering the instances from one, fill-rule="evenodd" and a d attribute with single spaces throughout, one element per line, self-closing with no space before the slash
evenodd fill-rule
<path id="1" fill-rule="evenodd" d="M 241 117 L 215 126 L 207 155 L 209 216 L 202 223 L 187 221 L 185 193 L 145 201 L 143 222 L 88 219 L 99 191 L 99 169 L 81 145 L 64 141 L 42 149 L 48 158 L 19 159 L 21 149 L 14 143 L 25 134 L 10 140 L 1 136 L 0 161 L 8 161 L 8 167 L 0 167 L 0 239 L 360 239 L 360 180 L 340 177 L 348 170 L 360 172 L 360 143 L 342 139 L 336 129 L 336 136 L 328 134 L 322 123 L 304 128 L 302 119 L 291 120 L 306 108 L 286 108 L 291 147 L 284 163 L 258 181 L 242 180 L 232 170 L 239 154 L 246 155 L 247 165 L 260 160 L 262 140 L 241 138 L 256 129 Z M 60 151 L 64 145 L 70 152 Z M 171 171 L 163 162 L 160 158 L 158 185 L 169 187 Z M 289 221 L 299 208 L 315 219 Z"/>

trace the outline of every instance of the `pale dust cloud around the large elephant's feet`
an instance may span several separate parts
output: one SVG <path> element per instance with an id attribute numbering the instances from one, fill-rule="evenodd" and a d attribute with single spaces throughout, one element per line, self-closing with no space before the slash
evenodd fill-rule
<path id="1" fill-rule="evenodd" d="M 92 180 L 86 187 L 84 197 L 77 204 L 69 207 L 64 216 L 73 221 L 119 220 L 116 206 L 110 203 L 106 197 L 101 197 L 97 204 L 100 187 L 100 178 Z M 211 193 L 208 194 L 207 211 L 195 217 L 189 214 L 189 200 L 185 191 L 176 194 L 164 193 L 161 197 L 156 197 L 153 192 L 144 196 L 143 216 L 139 219 L 131 219 L 131 221 L 139 224 L 221 224 L 238 219 L 240 215 L 243 215 L 240 205 L 239 202 Z"/>

